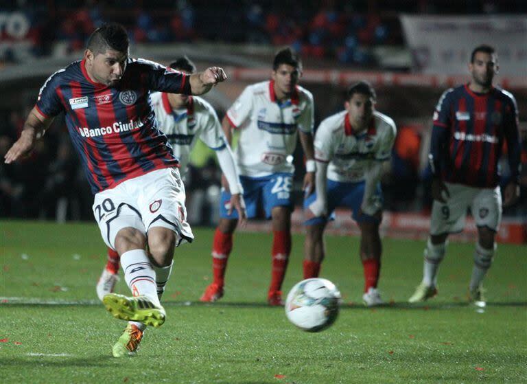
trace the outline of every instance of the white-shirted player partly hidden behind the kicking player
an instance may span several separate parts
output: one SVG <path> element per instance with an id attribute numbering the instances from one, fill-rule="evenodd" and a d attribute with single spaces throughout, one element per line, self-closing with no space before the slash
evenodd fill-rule
<path id="1" fill-rule="evenodd" d="M 169 65 L 169 68 L 191 75 L 196 72 L 196 67 L 189 58 L 182 57 Z M 152 108 L 156 115 L 158 129 L 165 133 L 169 144 L 172 146 L 174 157 L 179 160 L 181 178 L 187 173 L 192 148 L 196 146 L 198 138 L 215 150 L 220 163 L 220 168 L 229 183 L 233 193 L 231 210 L 235 209 L 240 221 L 246 219 L 245 205 L 242 197 L 242 185 L 239 183 L 235 161 L 231 147 L 226 142 L 222 126 L 216 113 L 206 100 L 177 93 L 156 92 L 150 96 Z M 169 273 L 169 269 L 167 273 Z M 97 282 L 97 297 L 103 300 L 105 295 L 113 293 L 115 284 L 119 280 L 119 254 L 108 248 L 108 262 Z M 166 274 L 166 273 L 165 273 Z M 163 275 L 165 275 L 163 274 Z M 157 294 L 161 298 L 165 291 L 166 278 L 158 279 Z"/>

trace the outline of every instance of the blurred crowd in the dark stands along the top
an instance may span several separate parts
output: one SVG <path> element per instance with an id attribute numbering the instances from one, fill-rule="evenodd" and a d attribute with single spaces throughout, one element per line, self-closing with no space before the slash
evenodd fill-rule
<path id="1" fill-rule="evenodd" d="M 11 0 L 0 12 L 19 11 L 29 21 L 25 39 L 33 54 L 49 54 L 53 43 L 68 52 L 84 47 L 94 27 L 123 23 L 136 43 L 196 40 L 291 45 L 304 57 L 374 64 L 368 47 L 403 45 L 399 14 L 495 14 L 525 12 L 516 0 Z M 3 37 L 5 36 L 3 28 Z M 5 60 L 16 60 L 7 52 Z"/>

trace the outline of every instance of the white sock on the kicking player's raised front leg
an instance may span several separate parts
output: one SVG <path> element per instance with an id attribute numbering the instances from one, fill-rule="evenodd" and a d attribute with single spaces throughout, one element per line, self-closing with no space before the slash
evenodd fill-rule
<path id="1" fill-rule="evenodd" d="M 156 306 L 161 306 L 157 298 L 156 272 L 144 249 L 132 249 L 121 255 L 124 280 L 132 295 L 146 296 Z"/>

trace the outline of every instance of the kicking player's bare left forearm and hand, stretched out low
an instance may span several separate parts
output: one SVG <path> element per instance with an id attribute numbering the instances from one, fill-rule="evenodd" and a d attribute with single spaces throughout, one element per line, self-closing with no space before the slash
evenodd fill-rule
<path id="1" fill-rule="evenodd" d="M 36 107 L 33 107 L 30 115 L 27 116 L 27 120 L 25 120 L 19 139 L 5 154 L 5 163 L 9 164 L 29 155 L 35 146 L 36 140 L 43 136 L 52 121 L 53 117 L 45 117 L 38 112 Z"/>

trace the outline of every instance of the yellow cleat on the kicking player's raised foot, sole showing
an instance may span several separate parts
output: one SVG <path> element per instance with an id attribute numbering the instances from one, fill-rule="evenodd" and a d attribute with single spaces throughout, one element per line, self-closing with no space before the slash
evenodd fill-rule
<path id="1" fill-rule="evenodd" d="M 106 310 L 117 319 L 139 321 L 156 328 L 165 322 L 165 308 L 154 305 L 145 296 L 128 297 L 109 293 L 103 297 L 102 302 Z"/>

